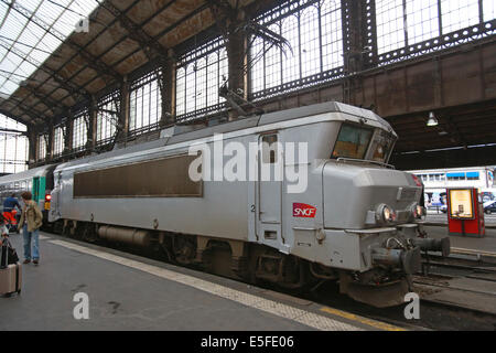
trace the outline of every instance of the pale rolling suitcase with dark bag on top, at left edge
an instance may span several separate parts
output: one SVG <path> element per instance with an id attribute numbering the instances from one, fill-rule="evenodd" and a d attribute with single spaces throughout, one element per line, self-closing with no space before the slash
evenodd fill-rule
<path id="1" fill-rule="evenodd" d="M 22 267 L 10 242 L 7 239 L 4 243 L 0 256 L 0 295 L 10 296 L 21 292 Z"/>

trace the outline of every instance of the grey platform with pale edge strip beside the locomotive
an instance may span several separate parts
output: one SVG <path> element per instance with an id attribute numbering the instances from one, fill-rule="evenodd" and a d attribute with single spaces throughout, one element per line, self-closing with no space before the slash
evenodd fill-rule
<path id="1" fill-rule="evenodd" d="M 22 237 L 11 235 L 21 259 Z M 401 330 L 238 281 L 42 233 L 41 264 L 0 298 L 0 330 Z M 89 319 L 73 315 L 89 298 Z"/>

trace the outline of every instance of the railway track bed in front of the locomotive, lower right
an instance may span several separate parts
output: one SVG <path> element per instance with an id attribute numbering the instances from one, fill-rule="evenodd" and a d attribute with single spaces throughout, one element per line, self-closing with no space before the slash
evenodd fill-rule
<path id="1" fill-rule="evenodd" d="M 431 266 L 433 266 L 432 263 Z M 443 269 L 448 268 L 448 266 L 445 265 Z M 463 267 L 464 271 L 467 271 L 466 267 Z M 457 266 L 455 268 L 460 269 Z M 479 271 L 478 268 L 472 268 L 471 270 Z M 333 306 L 341 310 L 402 327 L 407 330 L 496 331 L 496 271 L 485 268 L 483 274 L 492 277 L 422 276 L 421 274 L 413 276 L 413 290 L 420 297 L 420 319 L 408 320 L 405 318 L 403 311 L 407 303 L 405 306 L 379 309 L 349 300 L 349 298 L 337 295 L 337 285 L 323 286 L 319 292 L 313 293 L 310 298 L 325 306 Z M 470 282 L 466 282 L 467 280 Z M 471 299 L 473 300 L 471 301 Z"/>

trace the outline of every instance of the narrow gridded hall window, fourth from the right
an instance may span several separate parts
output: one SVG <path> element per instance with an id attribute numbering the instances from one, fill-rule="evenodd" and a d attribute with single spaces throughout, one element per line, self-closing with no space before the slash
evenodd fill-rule
<path id="1" fill-rule="evenodd" d="M 137 79 L 131 85 L 129 103 L 129 131 L 144 131 L 155 125 L 162 115 L 162 97 L 155 72 Z"/>

